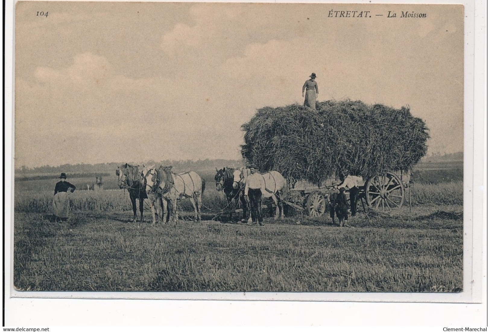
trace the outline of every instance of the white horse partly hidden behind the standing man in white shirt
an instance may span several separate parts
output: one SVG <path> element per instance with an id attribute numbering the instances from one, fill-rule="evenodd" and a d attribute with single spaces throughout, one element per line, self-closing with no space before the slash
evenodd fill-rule
<path id="1" fill-rule="evenodd" d="M 250 175 L 250 169 L 247 167 L 242 167 L 236 169 L 233 172 L 233 188 L 245 187 L 246 178 Z M 271 197 L 276 206 L 276 213 L 274 215 L 274 220 L 279 216 L 284 219 L 284 209 L 283 209 L 283 197 L 289 190 L 288 182 L 286 179 L 276 170 L 265 172 L 261 174 L 264 178 L 266 188 L 262 189 L 262 198 Z"/>

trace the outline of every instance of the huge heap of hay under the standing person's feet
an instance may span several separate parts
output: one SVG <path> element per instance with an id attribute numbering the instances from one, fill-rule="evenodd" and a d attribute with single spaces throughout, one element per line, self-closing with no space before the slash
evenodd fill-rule
<path id="1" fill-rule="evenodd" d="M 332 175 L 407 170 L 425 155 L 429 139 L 425 122 L 409 108 L 348 99 L 318 102 L 316 111 L 264 107 L 242 130 L 246 162 L 315 184 Z"/>

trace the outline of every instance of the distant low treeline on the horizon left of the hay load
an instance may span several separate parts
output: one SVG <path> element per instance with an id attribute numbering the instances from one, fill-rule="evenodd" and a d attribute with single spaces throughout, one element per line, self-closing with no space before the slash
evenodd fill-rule
<path id="1" fill-rule="evenodd" d="M 196 170 L 201 168 L 209 168 L 209 167 L 238 167 L 243 165 L 242 161 L 239 160 L 228 160 L 228 159 L 205 159 L 205 160 L 185 160 L 185 161 L 175 161 L 175 160 L 163 160 L 160 162 L 155 161 L 147 161 L 147 162 L 119 162 L 119 163 L 105 163 L 105 164 L 65 164 L 60 166 L 40 166 L 40 167 L 26 167 L 22 166 L 20 168 L 15 169 L 15 175 L 26 175 L 26 174 L 53 174 L 53 173 L 61 173 L 61 172 L 71 172 L 71 173 L 90 173 L 90 174 L 107 174 L 114 173 L 118 166 L 121 166 L 125 163 L 131 165 L 164 165 L 164 166 L 172 166 L 173 169 L 179 170 Z"/>

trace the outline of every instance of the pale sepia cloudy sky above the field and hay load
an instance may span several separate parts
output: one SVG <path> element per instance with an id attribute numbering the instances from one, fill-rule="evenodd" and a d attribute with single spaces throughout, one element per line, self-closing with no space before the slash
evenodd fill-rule
<path id="1" fill-rule="evenodd" d="M 429 154 L 463 151 L 462 6 L 32 1 L 15 20 L 15 167 L 240 160 L 240 126 L 302 104 L 312 72 L 318 100 L 409 105 Z"/>

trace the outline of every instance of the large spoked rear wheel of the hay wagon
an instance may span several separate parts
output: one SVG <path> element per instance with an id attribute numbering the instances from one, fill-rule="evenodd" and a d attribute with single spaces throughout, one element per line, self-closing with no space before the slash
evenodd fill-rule
<path id="1" fill-rule="evenodd" d="M 405 199 L 405 187 L 400 178 L 391 172 L 376 175 L 366 183 L 368 206 L 382 211 L 401 208 Z"/>

